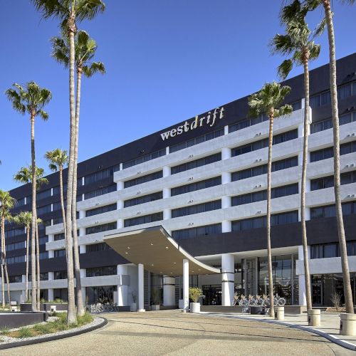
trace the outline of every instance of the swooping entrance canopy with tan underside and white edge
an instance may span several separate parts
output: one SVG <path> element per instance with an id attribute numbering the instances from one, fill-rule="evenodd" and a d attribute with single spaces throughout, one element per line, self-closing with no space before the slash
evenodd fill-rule
<path id="1" fill-rule="evenodd" d="M 162 226 L 127 231 L 104 237 L 104 241 L 128 261 L 163 276 L 182 276 L 183 260 L 189 261 L 189 275 L 221 273 L 184 251 Z"/>

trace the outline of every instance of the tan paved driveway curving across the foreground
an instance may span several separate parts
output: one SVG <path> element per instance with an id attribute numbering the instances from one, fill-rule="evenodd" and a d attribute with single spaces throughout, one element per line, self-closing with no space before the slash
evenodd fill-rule
<path id="1" fill-rule="evenodd" d="M 302 330 L 178 310 L 105 314 L 104 328 L 3 355 L 355 355 Z"/>

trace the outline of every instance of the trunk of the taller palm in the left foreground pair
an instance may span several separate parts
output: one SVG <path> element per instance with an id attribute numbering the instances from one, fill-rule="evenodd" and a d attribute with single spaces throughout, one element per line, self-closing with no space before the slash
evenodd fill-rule
<path id="1" fill-rule="evenodd" d="M 66 227 L 67 227 L 67 278 L 68 278 L 68 314 L 67 323 L 74 324 L 77 321 L 75 314 L 75 296 L 74 296 L 74 274 L 73 274 L 73 244 L 72 244 L 72 194 L 73 194 L 73 168 L 75 152 L 75 102 L 74 102 L 74 33 L 75 18 L 70 17 L 68 22 L 69 44 L 70 44 L 70 66 L 69 66 L 69 105 L 70 105 L 70 144 L 69 144 L 69 164 L 68 164 L 68 184 L 67 184 L 67 209 L 66 209 Z M 64 224 L 64 221 L 63 221 Z"/>

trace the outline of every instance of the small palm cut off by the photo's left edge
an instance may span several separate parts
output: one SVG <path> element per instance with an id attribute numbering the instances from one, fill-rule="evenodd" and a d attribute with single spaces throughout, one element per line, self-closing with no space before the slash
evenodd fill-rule
<path id="1" fill-rule="evenodd" d="M 2 287 L 2 307 L 5 308 L 5 293 L 4 293 L 4 269 L 6 275 L 7 293 L 10 298 L 10 283 L 9 273 L 7 273 L 6 263 L 6 248 L 5 248 L 5 221 L 11 221 L 10 210 L 14 208 L 16 200 L 11 197 L 9 192 L 4 192 L 0 189 L 0 219 L 1 219 L 1 287 Z"/>

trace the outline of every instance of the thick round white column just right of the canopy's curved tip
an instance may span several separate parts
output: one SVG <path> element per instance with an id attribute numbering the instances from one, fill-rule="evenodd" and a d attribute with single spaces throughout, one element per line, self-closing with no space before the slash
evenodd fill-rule
<path id="1" fill-rule="evenodd" d="M 235 260 L 231 253 L 221 256 L 221 305 L 231 306 L 234 300 Z"/>

